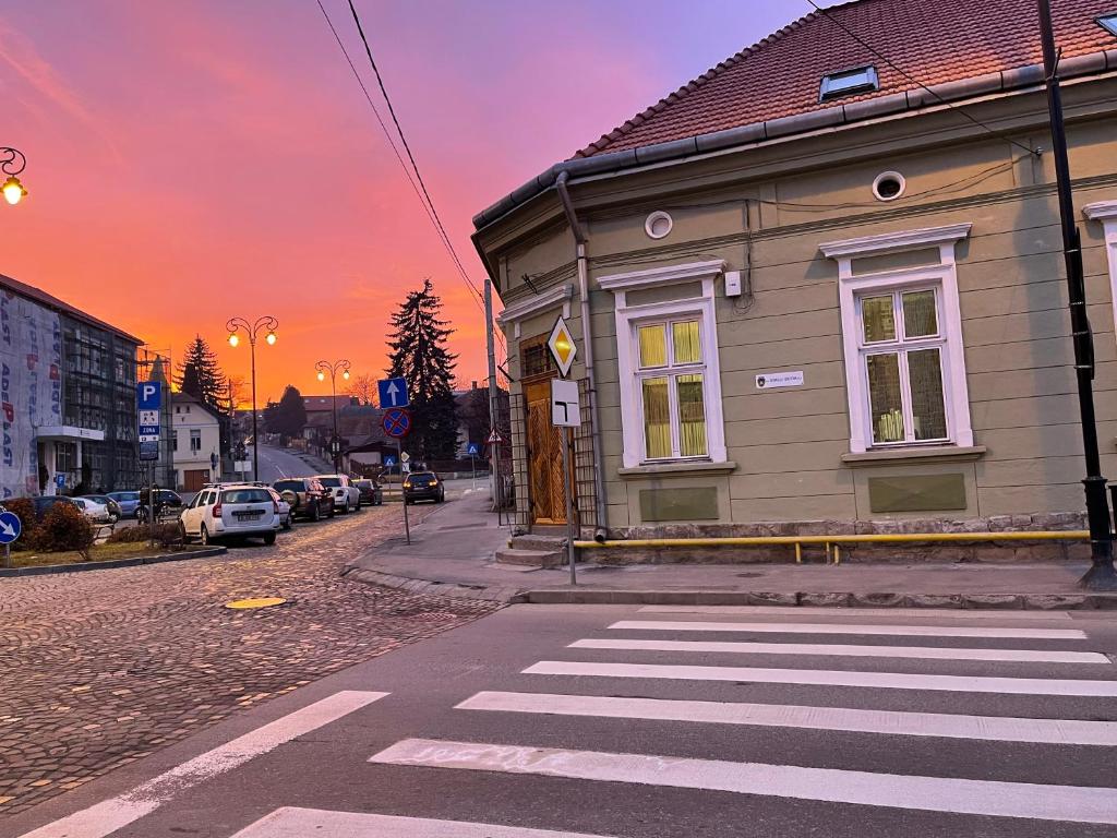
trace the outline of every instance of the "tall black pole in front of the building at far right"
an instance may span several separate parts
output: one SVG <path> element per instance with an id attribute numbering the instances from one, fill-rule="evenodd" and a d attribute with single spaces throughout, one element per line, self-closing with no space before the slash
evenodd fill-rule
<path id="1" fill-rule="evenodd" d="M 1090 590 L 1117 590 L 1114 572 L 1114 542 L 1109 524 L 1106 478 L 1101 476 L 1098 455 L 1098 426 L 1094 415 L 1094 340 L 1086 316 L 1086 283 L 1082 277 L 1082 245 L 1075 221 L 1075 199 L 1070 189 L 1070 161 L 1062 121 L 1062 93 L 1059 89 L 1059 54 L 1051 27 L 1051 4 L 1039 1 L 1040 38 L 1043 44 L 1043 70 L 1047 76 L 1048 111 L 1054 152 L 1059 216 L 1062 223 L 1063 258 L 1067 265 L 1067 292 L 1070 297 L 1070 328 L 1075 341 L 1075 373 L 1078 377 L 1078 410 L 1082 423 L 1082 449 L 1086 455 L 1086 514 L 1090 527 L 1090 569 L 1080 584 Z"/>

